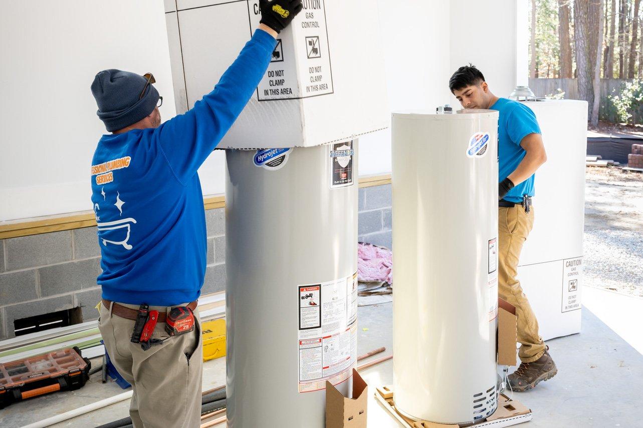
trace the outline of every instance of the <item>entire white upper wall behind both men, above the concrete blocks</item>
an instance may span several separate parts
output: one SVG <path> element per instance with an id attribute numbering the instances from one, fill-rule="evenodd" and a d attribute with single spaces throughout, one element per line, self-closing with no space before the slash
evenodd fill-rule
<path id="1" fill-rule="evenodd" d="M 469 62 L 507 96 L 525 1 L 378 0 L 390 110 L 457 105 L 448 80 Z M 163 3 L 15 1 L 0 15 L 0 37 L 11 64 L 0 68 L 0 221 L 91 209 L 89 166 L 105 132 L 89 90 L 95 73 L 151 71 L 163 118 L 176 112 Z M 363 136 L 359 156 L 360 175 L 390 172 L 390 130 Z M 217 150 L 199 170 L 203 193 L 223 193 L 224 174 Z"/>

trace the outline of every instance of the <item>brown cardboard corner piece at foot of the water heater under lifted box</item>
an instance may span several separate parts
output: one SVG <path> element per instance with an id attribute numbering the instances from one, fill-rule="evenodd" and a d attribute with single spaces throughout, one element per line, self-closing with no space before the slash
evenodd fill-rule
<path id="1" fill-rule="evenodd" d="M 352 398 L 326 381 L 326 428 L 366 428 L 368 385 L 353 369 Z"/>

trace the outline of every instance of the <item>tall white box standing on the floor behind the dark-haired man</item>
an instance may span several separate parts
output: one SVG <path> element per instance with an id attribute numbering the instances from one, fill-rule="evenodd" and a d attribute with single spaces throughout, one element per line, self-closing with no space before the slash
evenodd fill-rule
<path id="1" fill-rule="evenodd" d="M 536 172 L 534 228 L 518 279 L 543 340 L 581 331 L 587 102 L 527 102 L 543 133 L 547 162 Z"/>

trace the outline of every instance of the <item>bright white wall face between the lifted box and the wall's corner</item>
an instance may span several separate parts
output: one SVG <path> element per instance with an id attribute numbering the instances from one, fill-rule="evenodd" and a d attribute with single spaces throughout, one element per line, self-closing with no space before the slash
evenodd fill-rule
<path id="1" fill-rule="evenodd" d="M 449 2 L 377 3 L 390 110 L 428 111 L 448 103 Z M 361 137 L 359 144 L 359 175 L 390 172 L 390 128 Z"/>

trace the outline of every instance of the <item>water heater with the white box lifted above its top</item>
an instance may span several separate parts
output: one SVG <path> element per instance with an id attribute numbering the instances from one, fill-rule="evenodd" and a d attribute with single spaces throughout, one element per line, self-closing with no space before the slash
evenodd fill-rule
<path id="1" fill-rule="evenodd" d="M 323 428 L 357 359 L 357 141 L 226 165 L 228 427 Z"/>

